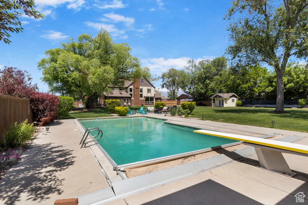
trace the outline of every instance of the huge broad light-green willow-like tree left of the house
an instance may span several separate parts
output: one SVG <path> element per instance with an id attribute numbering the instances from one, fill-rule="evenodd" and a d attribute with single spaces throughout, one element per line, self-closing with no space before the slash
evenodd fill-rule
<path id="1" fill-rule="evenodd" d="M 111 93 L 110 85 L 124 87 L 125 80 L 150 77 L 148 68 L 141 68 L 126 43 L 115 43 L 101 30 L 95 37 L 82 34 L 62 43 L 60 48 L 46 51 L 47 58 L 38 63 L 43 82 L 51 92 L 79 95 L 87 108 L 102 96 Z"/>

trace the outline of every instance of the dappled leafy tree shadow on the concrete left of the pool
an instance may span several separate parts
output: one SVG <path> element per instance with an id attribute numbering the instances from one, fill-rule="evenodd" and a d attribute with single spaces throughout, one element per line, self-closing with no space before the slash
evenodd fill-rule
<path id="1" fill-rule="evenodd" d="M 61 195 L 63 180 L 59 171 L 75 163 L 72 151 L 61 149 L 63 146 L 32 144 L 0 182 L 0 198 L 5 204 L 18 204 L 20 197 L 41 202 L 50 194 Z"/>

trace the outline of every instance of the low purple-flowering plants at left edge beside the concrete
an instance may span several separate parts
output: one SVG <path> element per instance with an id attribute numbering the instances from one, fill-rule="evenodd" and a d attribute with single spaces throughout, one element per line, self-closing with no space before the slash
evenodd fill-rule
<path id="1" fill-rule="evenodd" d="M 9 148 L 6 151 L 0 152 L 0 171 L 8 169 L 17 164 L 21 160 L 22 153 L 26 152 L 25 148 Z"/>

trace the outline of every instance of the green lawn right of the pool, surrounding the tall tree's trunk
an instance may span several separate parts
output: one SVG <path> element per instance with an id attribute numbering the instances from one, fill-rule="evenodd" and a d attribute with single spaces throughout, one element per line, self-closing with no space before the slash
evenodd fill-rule
<path id="1" fill-rule="evenodd" d="M 197 106 L 192 112 L 193 116 L 203 120 L 225 122 L 232 124 L 252 125 L 272 128 L 272 120 L 275 120 L 274 128 L 308 132 L 308 109 L 285 108 L 290 113 L 269 113 L 275 108 L 218 108 Z"/>

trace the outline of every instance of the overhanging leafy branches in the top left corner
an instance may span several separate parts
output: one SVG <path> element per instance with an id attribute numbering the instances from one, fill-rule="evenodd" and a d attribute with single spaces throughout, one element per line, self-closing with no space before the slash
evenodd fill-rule
<path id="1" fill-rule="evenodd" d="M 44 18 L 43 14 L 36 11 L 33 0 L 1 0 L 0 1 L 0 41 L 10 43 L 9 32 L 22 32 L 22 23 L 18 17 L 24 13 L 34 18 Z M 23 13 L 20 13 L 23 11 Z"/>

